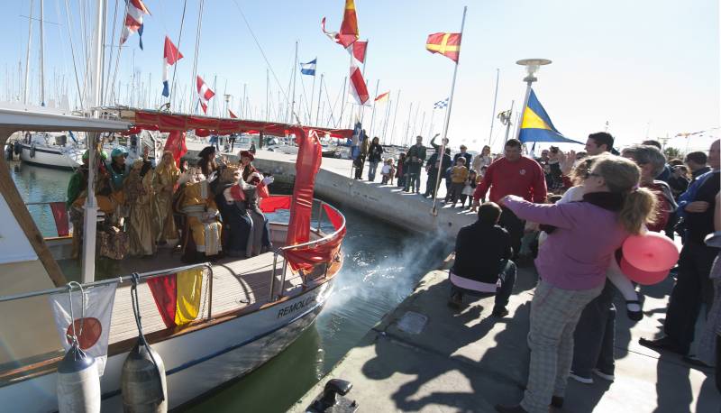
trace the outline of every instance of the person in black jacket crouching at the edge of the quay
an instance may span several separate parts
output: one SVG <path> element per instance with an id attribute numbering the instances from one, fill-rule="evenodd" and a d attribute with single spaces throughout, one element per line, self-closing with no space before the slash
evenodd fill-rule
<path id="1" fill-rule="evenodd" d="M 449 306 L 460 308 L 463 294 L 496 296 L 493 317 L 505 317 L 506 306 L 516 283 L 516 264 L 511 237 L 498 226 L 501 208 L 494 202 L 479 206 L 479 219 L 461 228 L 456 236 L 456 256 L 450 272 Z M 497 282 L 500 280 L 500 287 Z"/>

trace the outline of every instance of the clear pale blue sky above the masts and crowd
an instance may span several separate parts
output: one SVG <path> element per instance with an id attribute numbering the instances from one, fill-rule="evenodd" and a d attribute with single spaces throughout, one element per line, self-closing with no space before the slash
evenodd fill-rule
<path id="1" fill-rule="evenodd" d="M 80 43 L 78 4 L 87 0 L 68 0 L 73 12 L 73 37 Z M 19 90 L 18 62 L 23 61 L 27 44 L 29 0 L 5 0 L 5 19 L 0 36 L 0 50 L 5 62 L 5 82 L 0 96 L 8 90 Z M 39 0 L 35 0 L 37 15 Z M 46 24 L 46 78 L 52 97 L 57 95 L 55 78 L 66 76 L 69 94 L 77 94 L 72 83 L 65 0 L 46 0 L 45 19 L 60 25 Z M 183 0 L 146 0 L 151 16 L 145 18 L 144 49 L 138 48 L 134 35 L 123 49 L 119 65 L 125 87 L 134 68 L 141 74 L 141 85 L 154 103 L 160 96 L 162 42 L 168 34 L 178 43 Z M 188 0 L 183 35 L 179 49 L 185 59 L 178 63 L 177 103 L 190 101 L 188 84 L 192 78 L 193 50 L 196 41 L 198 0 Z M 253 32 L 269 59 L 270 68 L 280 86 L 290 93 L 288 83 L 295 41 L 298 60 L 318 58 L 318 74 L 324 73 L 329 99 L 324 99 L 327 121 L 328 100 L 333 105 L 348 74 L 349 58 L 342 48 L 329 41 L 320 30 L 320 20 L 327 17 L 327 27 L 337 30 L 342 21 L 343 0 L 319 1 L 248 1 L 206 0 L 203 14 L 198 73 L 215 91 L 233 95 L 237 113 L 247 85 L 251 117 L 263 118 L 266 107 L 266 69 L 259 48 L 242 20 L 239 9 L 248 18 Z M 368 39 L 366 79 L 371 99 L 380 80 L 379 93 L 391 91 L 391 116 L 386 133 L 390 139 L 398 94 L 395 141 L 408 133 L 429 133 L 433 104 L 449 95 L 453 71 L 452 60 L 433 55 L 424 49 L 425 38 L 432 32 L 458 32 L 463 5 L 468 5 L 461 63 L 458 71 L 455 101 L 449 136 L 452 146 L 465 142 L 479 150 L 489 140 L 496 69 L 500 70 L 496 113 L 516 100 L 516 110 L 524 96 L 523 68 L 516 60 L 546 58 L 553 61 L 538 74 L 536 95 L 551 116 L 555 126 L 570 138 L 585 141 L 592 132 L 605 128 L 622 144 L 651 138 L 696 132 L 719 126 L 719 10 L 716 0 L 515 0 L 515 1 L 376 1 L 356 0 L 361 39 Z M 109 0 L 110 21 L 115 1 Z M 122 21 L 120 1 L 116 21 Z M 35 26 L 37 28 L 37 25 Z M 109 23 L 112 31 L 112 23 Z M 118 30 L 118 29 L 116 29 Z M 38 95 L 38 34 L 33 38 L 33 96 Z M 108 39 L 110 33 L 108 34 Z M 108 40 L 109 42 L 109 40 Z M 79 50 L 76 50 L 79 53 Z M 134 53 L 134 59 L 133 59 Z M 148 87 L 149 75 L 151 87 Z M 301 83 L 301 78 L 303 82 Z M 318 78 L 319 81 L 319 78 Z M 227 86 L 226 86 L 227 84 Z M 297 77 L 297 95 L 311 94 L 313 78 Z M 312 106 L 315 121 L 317 87 Z M 278 83 L 271 75 L 272 112 L 278 112 Z M 184 92 L 185 91 L 185 92 Z M 182 96 L 181 96 L 182 95 Z M 37 99 L 37 97 L 35 97 Z M 297 97 L 297 100 L 300 97 Z M 307 97 L 304 97 L 307 100 Z M 281 99 L 284 100 L 284 99 Z M 406 128 L 409 106 L 413 104 L 411 125 Z M 177 106 L 178 106 L 177 104 Z M 216 103 L 218 114 L 223 102 Z M 416 120 L 416 107 L 418 115 Z M 336 106 L 335 115 L 340 111 Z M 423 116 L 425 113 L 425 117 Z M 347 114 L 347 109 L 346 109 Z M 370 108 L 365 113 L 370 129 Z M 421 122 L 424 117 L 424 126 Z M 379 106 L 373 134 L 379 131 L 379 118 L 385 118 L 385 106 Z M 315 123 L 315 122 L 313 122 Z M 325 122 L 321 122 L 324 124 Z M 435 111 L 434 133 L 441 132 L 440 111 Z M 343 122 L 344 125 L 348 121 Z M 503 126 L 495 123 L 494 149 L 503 141 Z M 718 130 L 710 134 L 718 136 Z M 685 140 L 670 141 L 683 148 Z M 690 148 L 707 146 L 708 139 L 694 138 Z"/>

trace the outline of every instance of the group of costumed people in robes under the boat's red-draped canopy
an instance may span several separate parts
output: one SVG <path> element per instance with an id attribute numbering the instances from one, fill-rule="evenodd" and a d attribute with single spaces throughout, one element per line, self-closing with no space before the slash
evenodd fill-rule
<path id="1" fill-rule="evenodd" d="M 100 151 L 96 163 L 96 205 L 103 213 L 96 227 L 98 254 L 114 260 L 151 257 L 159 248 L 181 252 L 184 262 L 223 255 L 252 257 L 271 248 L 268 219 L 260 198 L 268 197 L 271 176 L 252 165 L 251 151 L 233 164 L 216 156 L 216 147 L 200 151 L 195 167 L 164 151 L 155 165 L 145 151 L 126 164 L 128 151 Z M 88 153 L 68 182 L 68 215 L 73 224 L 73 257 L 84 235 L 89 176 Z"/>

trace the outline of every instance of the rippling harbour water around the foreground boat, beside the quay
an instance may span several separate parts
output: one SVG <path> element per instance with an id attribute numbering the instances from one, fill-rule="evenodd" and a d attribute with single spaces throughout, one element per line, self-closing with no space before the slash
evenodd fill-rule
<path id="1" fill-rule="evenodd" d="M 26 202 L 65 199 L 69 172 L 12 168 Z M 335 206 L 348 223 L 344 265 L 333 296 L 315 324 L 269 363 L 214 391 L 188 411 L 285 411 L 406 298 L 417 280 L 447 252 L 429 237 L 407 233 L 345 205 Z M 55 235 L 47 207 L 32 207 L 31 213 L 43 234 Z"/>

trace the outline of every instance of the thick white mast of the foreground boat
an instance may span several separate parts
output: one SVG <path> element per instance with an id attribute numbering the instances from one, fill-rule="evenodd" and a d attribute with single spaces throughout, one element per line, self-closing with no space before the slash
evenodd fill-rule
<path id="1" fill-rule="evenodd" d="M 101 89 L 103 87 L 103 42 L 105 37 L 105 0 L 97 0 L 96 31 L 90 44 L 90 60 L 87 65 L 88 79 L 90 80 L 90 101 L 93 117 L 98 117 L 97 107 L 101 104 Z M 88 165 L 87 169 L 87 198 L 85 203 L 85 217 L 83 220 L 83 262 L 82 281 L 92 282 L 96 272 L 96 226 L 97 204 L 95 193 L 96 178 L 96 141 L 99 133 L 87 133 Z"/>

